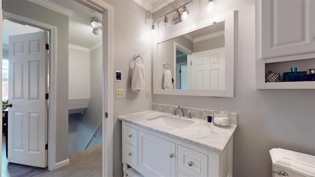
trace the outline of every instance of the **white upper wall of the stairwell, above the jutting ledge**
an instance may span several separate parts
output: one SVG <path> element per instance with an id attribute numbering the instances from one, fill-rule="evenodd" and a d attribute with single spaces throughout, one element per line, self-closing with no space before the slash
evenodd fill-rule
<path id="1" fill-rule="evenodd" d="M 90 52 L 69 48 L 69 99 L 90 98 Z"/>

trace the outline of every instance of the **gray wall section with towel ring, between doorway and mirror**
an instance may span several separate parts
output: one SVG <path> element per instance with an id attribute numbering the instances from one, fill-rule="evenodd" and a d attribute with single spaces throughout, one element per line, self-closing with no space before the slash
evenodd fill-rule
<path id="1" fill-rule="evenodd" d="M 144 60 L 145 89 L 152 90 L 152 25 L 151 14 L 133 0 L 107 0 L 114 7 L 114 71 L 122 71 L 122 81 L 114 81 L 114 89 L 125 89 L 125 99 L 114 99 L 113 173 L 123 176 L 122 122 L 118 116 L 151 109 L 152 99 L 146 90 L 131 91 L 133 56 Z M 131 10 L 130 10 L 131 9 Z M 115 90 L 112 94 L 115 94 Z"/>

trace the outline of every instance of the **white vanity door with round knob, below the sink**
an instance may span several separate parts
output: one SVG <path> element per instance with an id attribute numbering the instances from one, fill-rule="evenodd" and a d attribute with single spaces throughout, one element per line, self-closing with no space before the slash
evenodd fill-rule
<path id="1" fill-rule="evenodd" d="M 175 143 L 142 131 L 138 136 L 138 166 L 153 177 L 175 177 Z"/>

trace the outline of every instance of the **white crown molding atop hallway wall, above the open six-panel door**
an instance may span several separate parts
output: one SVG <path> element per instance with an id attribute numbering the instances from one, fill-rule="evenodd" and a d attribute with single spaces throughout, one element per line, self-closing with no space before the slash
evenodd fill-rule
<path id="1" fill-rule="evenodd" d="M 69 18 L 74 13 L 72 10 L 64 8 L 63 6 L 57 5 L 57 4 L 55 4 L 51 1 L 48 1 L 48 0 L 28 0 L 28 1 L 33 2 L 37 5 L 41 5 L 43 7 L 46 7 L 50 10 L 61 13 L 63 15 L 69 16 Z"/>

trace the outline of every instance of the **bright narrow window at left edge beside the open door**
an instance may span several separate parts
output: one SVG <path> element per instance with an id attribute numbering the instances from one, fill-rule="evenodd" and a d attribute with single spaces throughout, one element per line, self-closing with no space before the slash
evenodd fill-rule
<path id="1" fill-rule="evenodd" d="M 9 99 L 9 59 L 2 59 L 2 101 Z"/>

